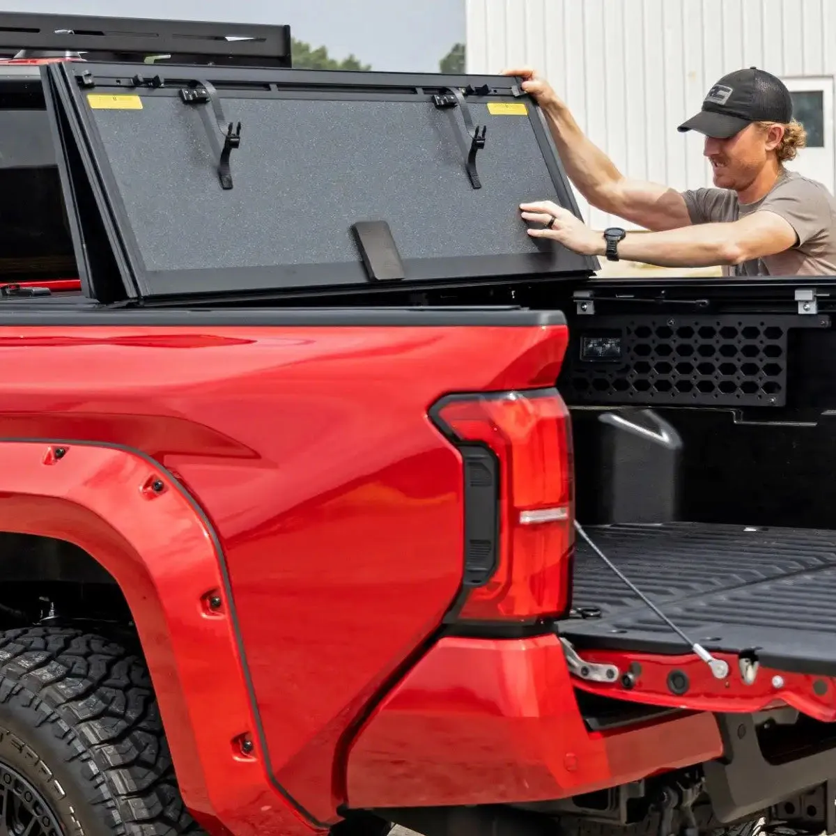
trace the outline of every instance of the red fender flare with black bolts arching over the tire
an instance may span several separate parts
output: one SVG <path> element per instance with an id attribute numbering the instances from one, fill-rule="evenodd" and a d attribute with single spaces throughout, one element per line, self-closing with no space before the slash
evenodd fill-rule
<path id="1" fill-rule="evenodd" d="M 171 472 L 118 445 L 0 441 L 0 531 L 74 543 L 115 579 L 140 636 L 181 794 L 197 818 L 228 822 L 272 806 L 275 788 L 294 818 L 319 825 L 268 783 L 221 543 Z"/>

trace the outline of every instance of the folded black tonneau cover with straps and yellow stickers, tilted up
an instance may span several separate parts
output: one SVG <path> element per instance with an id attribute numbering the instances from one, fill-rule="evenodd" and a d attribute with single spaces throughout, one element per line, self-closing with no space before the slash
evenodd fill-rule
<path id="1" fill-rule="evenodd" d="M 88 288 L 104 264 L 125 298 L 597 267 L 526 234 L 522 201 L 577 206 L 517 79 L 84 62 L 43 74 Z"/>

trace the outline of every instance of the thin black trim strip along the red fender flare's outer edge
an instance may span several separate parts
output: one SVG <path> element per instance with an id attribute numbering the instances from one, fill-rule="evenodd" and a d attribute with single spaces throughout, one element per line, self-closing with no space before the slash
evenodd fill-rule
<path id="1" fill-rule="evenodd" d="M 137 456 L 143 461 L 147 461 L 149 466 L 154 467 L 156 470 L 160 471 L 166 477 L 171 487 L 177 492 L 179 492 L 181 494 L 181 497 L 186 499 L 186 502 L 188 502 L 189 505 L 191 505 L 192 510 L 197 514 L 198 517 L 200 517 L 201 523 L 203 523 L 203 525 L 206 528 L 206 531 L 209 533 L 210 538 L 212 538 L 212 544 L 215 548 L 215 553 L 217 555 L 217 563 L 219 568 L 221 569 L 223 589 L 224 593 L 227 596 L 227 602 L 229 604 L 229 617 L 232 623 L 232 632 L 235 634 L 238 653 L 241 656 L 242 673 L 244 675 L 244 681 L 247 684 L 247 694 L 250 699 L 252 716 L 255 718 L 258 742 L 261 744 L 261 750 L 264 757 L 264 765 L 265 767 L 267 767 L 267 774 L 270 779 L 270 782 L 273 784 L 273 787 L 275 787 L 278 790 L 278 793 L 280 793 L 282 797 L 290 805 L 292 805 L 293 808 L 300 815 L 302 815 L 304 818 L 307 818 L 308 821 L 314 825 L 314 827 L 328 829 L 329 825 L 327 823 L 320 822 L 319 819 L 316 818 L 313 813 L 309 813 L 307 809 L 305 809 L 300 803 L 298 803 L 298 801 L 296 801 L 296 799 L 293 798 L 293 796 L 290 793 L 288 793 L 288 791 L 285 788 L 283 788 L 282 784 L 278 782 L 278 779 L 275 776 L 273 764 L 270 760 L 270 750 L 267 744 L 267 735 L 264 732 L 264 726 L 261 719 L 261 711 L 258 708 L 255 686 L 252 683 L 250 665 L 247 661 L 247 648 L 244 643 L 243 636 L 241 634 L 241 625 L 238 622 L 235 597 L 232 594 L 232 579 L 230 578 L 229 568 L 227 567 L 227 557 L 223 551 L 221 538 L 218 536 L 215 527 L 212 525 L 212 521 L 209 519 L 208 515 L 201 507 L 201 504 L 197 502 L 196 498 L 193 497 L 191 493 L 186 490 L 185 487 L 183 487 L 181 482 L 177 480 L 174 474 L 171 473 L 171 471 L 169 471 L 166 468 L 166 466 L 162 465 L 153 456 L 149 456 L 147 453 L 138 450 L 135 447 L 126 446 L 124 444 L 115 444 L 108 441 L 79 441 L 77 439 L 71 438 L 0 438 L 0 444 L 4 443 L 44 444 L 65 447 L 104 447 L 110 450 L 118 450 L 121 452 L 130 453 L 130 455 L 132 456 Z"/>

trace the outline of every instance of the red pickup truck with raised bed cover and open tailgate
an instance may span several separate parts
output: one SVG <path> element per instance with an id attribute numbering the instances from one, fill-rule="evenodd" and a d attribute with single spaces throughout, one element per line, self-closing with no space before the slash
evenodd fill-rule
<path id="1" fill-rule="evenodd" d="M 517 79 L 0 47 L 0 833 L 836 833 L 833 277 L 535 242 Z"/>

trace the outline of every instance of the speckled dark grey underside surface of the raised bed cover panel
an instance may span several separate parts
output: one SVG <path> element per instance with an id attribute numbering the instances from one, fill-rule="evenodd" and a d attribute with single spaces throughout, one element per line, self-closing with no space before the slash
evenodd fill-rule
<path id="1" fill-rule="evenodd" d="M 93 113 L 150 270 L 356 261 L 351 224 L 377 219 L 405 259 L 539 252 L 518 206 L 554 186 L 528 119 L 470 105 L 488 120 L 473 189 L 458 110 L 224 97 L 242 145 L 222 193 L 198 112 L 172 97 L 143 104 Z"/>

